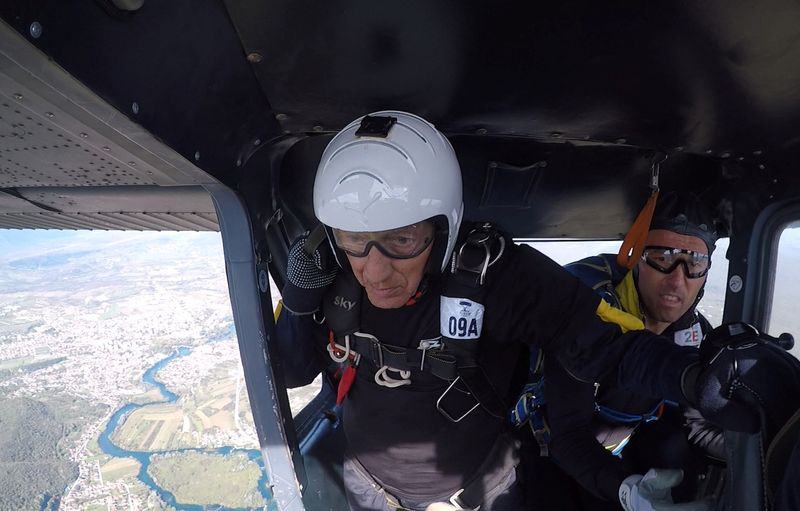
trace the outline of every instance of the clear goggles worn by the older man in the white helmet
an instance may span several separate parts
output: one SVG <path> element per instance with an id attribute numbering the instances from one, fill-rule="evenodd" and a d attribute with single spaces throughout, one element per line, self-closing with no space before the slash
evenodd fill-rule
<path id="1" fill-rule="evenodd" d="M 366 257 L 370 249 L 375 247 L 392 259 L 417 257 L 430 246 L 435 233 L 433 222 L 427 220 L 388 231 L 331 230 L 336 246 L 353 257 Z"/>

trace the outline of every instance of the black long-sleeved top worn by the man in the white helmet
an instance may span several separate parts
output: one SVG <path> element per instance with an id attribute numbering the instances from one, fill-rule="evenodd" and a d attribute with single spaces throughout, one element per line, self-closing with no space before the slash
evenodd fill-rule
<path id="1" fill-rule="evenodd" d="M 506 246 L 486 277 L 478 356 L 497 396 L 510 402 L 516 395 L 517 370 L 527 370 L 526 347 L 536 346 L 585 381 L 611 378 L 645 395 L 684 402 L 680 377 L 696 359 L 695 350 L 649 332 L 623 335 L 616 325 L 598 318 L 600 299 L 591 289 L 538 251 L 510 241 Z M 428 283 L 415 304 L 398 309 L 375 308 L 362 295 L 361 331 L 411 349 L 421 339 L 438 336 L 441 277 L 431 275 Z M 280 315 L 278 348 L 290 387 L 307 384 L 329 363 L 318 349 L 326 338 L 325 325 L 316 325 L 309 316 Z M 478 407 L 453 423 L 436 408 L 449 382 L 412 370 L 411 385 L 386 388 L 375 383 L 375 370 L 362 359 L 344 401 L 350 453 L 401 496 L 421 500 L 464 487 L 507 428 L 505 418 Z M 471 396 L 457 397 L 464 404 L 473 402 Z"/>

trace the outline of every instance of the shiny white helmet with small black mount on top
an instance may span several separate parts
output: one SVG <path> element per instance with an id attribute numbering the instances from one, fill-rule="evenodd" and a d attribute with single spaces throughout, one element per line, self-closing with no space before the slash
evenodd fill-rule
<path id="1" fill-rule="evenodd" d="M 445 217 L 441 270 L 455 246 L 463 212 L 455 151 L 416 115 L 382 111 L 356 119 L 331 140 L 317 168 L 314 213 L 328 227 L 386 231 Z"/>

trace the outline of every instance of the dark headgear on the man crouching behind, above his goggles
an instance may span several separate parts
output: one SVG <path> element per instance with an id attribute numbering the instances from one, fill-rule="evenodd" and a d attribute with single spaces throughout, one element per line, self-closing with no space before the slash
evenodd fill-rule
<path id="1" fill-rule="evenodd" d="M 703 240 L 708 254 L 714 251 L 717 229 L 711 211 L 696 194 L 667 192 L 658 198 L 650 230 L 665 229 Z"/>

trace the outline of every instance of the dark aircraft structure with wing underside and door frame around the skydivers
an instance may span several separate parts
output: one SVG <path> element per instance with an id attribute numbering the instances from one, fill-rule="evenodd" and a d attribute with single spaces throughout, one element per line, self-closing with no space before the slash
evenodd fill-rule
<path id="1" fill-rule="evenodd" d="M 344 509 L 335 388 L 292 418 L 267 276 L 316 224 L 327 143 L 384 109 L 445 133 L 465 220 L 519 240 L 621 239 L 654 179 L 702 193 L 729 239 L 723 321 L 770 331 L 800 222 L 792 0 L 5 0 L 0 228 L 219 231 L 276 508 Z M 787 427 L 771 451 L 731 435 L 725 509 L 772 508 Z"/>

